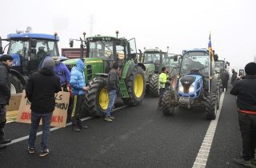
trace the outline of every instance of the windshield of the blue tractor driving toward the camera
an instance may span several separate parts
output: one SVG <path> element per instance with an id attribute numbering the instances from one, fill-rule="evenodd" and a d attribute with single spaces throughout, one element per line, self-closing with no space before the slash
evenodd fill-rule
<path id="1" fill-rule="evenodd" d="M 199 74 L 209 75 L 209 54 L 205 51 L 186 52 L 182 58 L 180 74 L 190 74 L 191 70 L 199 70 Z"/>

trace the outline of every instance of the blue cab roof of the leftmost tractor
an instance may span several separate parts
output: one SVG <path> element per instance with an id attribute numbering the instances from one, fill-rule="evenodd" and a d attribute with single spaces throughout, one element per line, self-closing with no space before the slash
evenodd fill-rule
<path id="1" fill-rule="evenodd" d="M 58 36 L 54 36 L 53 34 L 8 34 L 7 38 L 37 38 L 59 41 Z"/>

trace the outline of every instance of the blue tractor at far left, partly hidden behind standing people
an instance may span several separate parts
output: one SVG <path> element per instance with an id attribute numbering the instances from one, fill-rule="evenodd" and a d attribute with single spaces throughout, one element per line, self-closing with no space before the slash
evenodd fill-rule
<path id="1" fill-rule="evenodd" d="M 14 58 L 10 75 L 11 94 L 22 92 L 28 78 L 38 70 L 43 58 L 59 56 L 58 41 L 57 34 L 31 34 L 29 32 L 8 34 L 6 39 L 0 37 L 0 57 L 8 46 L 6 54 Z M 4 48 L 2 42 L 7 43 Z"/>

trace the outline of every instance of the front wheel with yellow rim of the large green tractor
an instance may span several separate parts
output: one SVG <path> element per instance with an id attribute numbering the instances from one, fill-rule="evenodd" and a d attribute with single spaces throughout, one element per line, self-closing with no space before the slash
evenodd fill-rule
<path id="1" fill-rule="evenodd" d="M 90 90 L 86 94 L 86 100 L 84 103 L 85 110 L 87 110 L 90 116 L 103 117 L 106 113 L 108 105 L 108 93 L 106 90 L 106 78 L 97 77 L 90 80 L 88 86 Z M 104 93 L 102 93 L 104 91 Z M 105 106 L 101 106 L 100 94 L 107 96 L 107 99 L 102 102 Z"/>

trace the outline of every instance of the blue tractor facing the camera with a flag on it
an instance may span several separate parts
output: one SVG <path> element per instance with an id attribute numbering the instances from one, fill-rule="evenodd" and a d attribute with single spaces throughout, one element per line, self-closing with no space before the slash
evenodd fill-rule
<path id="1" fill-rule="evenodd" d="M 211 54 L 210 54 L 211 53 Z M 179 74 L 172 78 L 171 89 L 162 97 L 162 112 L 174 115 L 175 107 L 201 107 L 206 119 L 216 118 L 219 104 L 219 82 L 214 71 L 218 57 L 206 49 L 184 50 Z"/>

